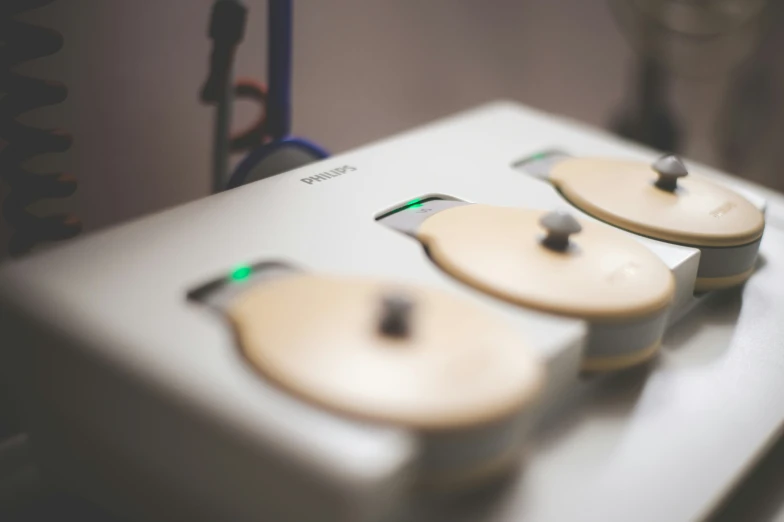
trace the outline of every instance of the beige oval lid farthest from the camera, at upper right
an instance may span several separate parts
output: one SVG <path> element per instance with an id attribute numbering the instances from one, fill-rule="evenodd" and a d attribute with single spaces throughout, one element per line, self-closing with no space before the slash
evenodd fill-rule
<path id="1" fill-rule="evenodd" d="M 740 194 L 689 173 L 667 191 L 647 163 L 572 158 L 550 179 L 572 204 L 620 228 L 685 245 L 728 247 L 762 235 L 765 218 Z"/>

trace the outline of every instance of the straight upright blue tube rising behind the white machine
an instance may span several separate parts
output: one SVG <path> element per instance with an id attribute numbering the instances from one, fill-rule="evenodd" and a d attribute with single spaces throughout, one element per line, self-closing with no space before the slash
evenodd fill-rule
<path id="1" fill-rule="evenodd" d="M 267 133 L 281 140 L 291 132 L 291 0 L 268 0 Z"/>

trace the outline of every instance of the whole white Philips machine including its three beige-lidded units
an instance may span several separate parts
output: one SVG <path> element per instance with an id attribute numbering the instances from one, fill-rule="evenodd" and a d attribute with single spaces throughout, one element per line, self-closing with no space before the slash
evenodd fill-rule
<path id="1" fill-rule="evenodd" d="M 784 197 L 659 156 L 498 102 L 6 264 L 43 469 L 140 521 L 709 516 L 784 428 Z"/>

